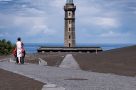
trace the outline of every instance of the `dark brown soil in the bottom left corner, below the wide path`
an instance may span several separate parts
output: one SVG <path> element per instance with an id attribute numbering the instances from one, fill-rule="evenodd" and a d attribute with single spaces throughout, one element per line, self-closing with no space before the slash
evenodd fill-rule
<path id="1" fill-rule="evenodd" d="M 0 90 L 41 90 L 44 83 L 0 69 Z"/>

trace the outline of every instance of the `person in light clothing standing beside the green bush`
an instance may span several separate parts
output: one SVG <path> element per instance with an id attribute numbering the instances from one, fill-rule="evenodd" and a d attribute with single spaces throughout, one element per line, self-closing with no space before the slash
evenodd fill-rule
<path id="1" fill-rule="evenodd" d="M 22 56 L 23 56 L 22 48 L 23 48 L 23 43 L 21 41 L 21 38 L 19 37 L 19 38 L 17 38 L 17 42 L 16 42 L 17 59 L 18 59 L 19 64 L 21 63 L 21 59 L 22 59 Z"/>

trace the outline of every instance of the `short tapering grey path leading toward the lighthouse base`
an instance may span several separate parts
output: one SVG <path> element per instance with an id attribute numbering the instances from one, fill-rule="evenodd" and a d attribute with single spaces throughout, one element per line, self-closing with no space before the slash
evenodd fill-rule
<path id="1" fill-rule="evenodd" d="M 60 64 L 61 68 L 71 68 L 71 69 L 80 69 L 78 63 L 72 56 L 72 54 L 67 54 L 65 58 L 63 59 L 62 63 Z"/>

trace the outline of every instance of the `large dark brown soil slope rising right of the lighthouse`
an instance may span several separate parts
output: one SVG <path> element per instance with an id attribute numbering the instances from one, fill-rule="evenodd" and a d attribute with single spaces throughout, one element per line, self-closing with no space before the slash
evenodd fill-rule
<path id="1" fill-rule="evenodd" d="M 73 56 L 83 70 L 136 76 L 136 46 Z"/>

